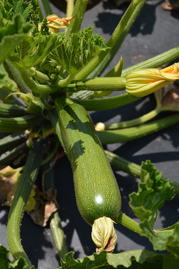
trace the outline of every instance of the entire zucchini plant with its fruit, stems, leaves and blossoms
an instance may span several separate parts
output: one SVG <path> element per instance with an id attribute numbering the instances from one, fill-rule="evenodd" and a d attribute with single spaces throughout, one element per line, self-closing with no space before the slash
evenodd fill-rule
<path id="1" fill-rule="evenodd" d="M 139 166 L 103 148 L 179 123 L 178 105 L 171 105 L 171 98 L 164 105 L 157 96 L 179 79 L 179 63 L 169 64 L 179 58 L 179 46 L 127 69 L 121 56 L 102 76 L 145 1 L 131 1 L 105 43 L 92 26 L 81 29 L 88 0 L 67 0 L 64 18 L 53 14 L 48 0 L 42 1 L 45 16 L 38 0 L 0 0 L 0 184 L 5 182 L 8 190 L 5 196 L 2 187 L 0 201 L 10 206 L 9 251 L 0 245 L 0 268 L 34 268 L 20 237 L 25 210 L 41 226 L 49 223 L 62 269 L 179 266 L 179 222 L 161 230 L 154 227 L 165 201 L 179 194 L 179 183 L 164 178 L 150 160 Z M 159 70 L 162 65 L 169 66 Z M 154 92 L 156 109 L 135 120 L 94 126 L 89 116 L 89 111 L 123 107 Z M 147 123 L 168 110 L 176 113 Z M 91 240 L 97 247 L 96 253 L 81 260 L 68 252 L 55 202 L 53 166 L 64 154 L 72 167 L 77 207 L 91 226 Z M 138 191 L 129 195 L 129 206 L 139 222 L 122 212 L 120 183 L 111 165 L 140 178 Z M 42 192 L 35 186 L 36 178 L 41 179 Z M 46 205 L 52 212 L 46 212 Z M 43 220 L 39 208 L 45 212 Z M 148 238 L 154 251 L 113 254 L 114 223 Z"/>

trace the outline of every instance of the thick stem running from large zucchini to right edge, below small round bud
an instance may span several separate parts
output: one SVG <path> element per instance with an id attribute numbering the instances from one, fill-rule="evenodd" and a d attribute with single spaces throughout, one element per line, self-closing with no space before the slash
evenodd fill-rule
<path id="1" fill-rule="evenodd" d="M 169 126 L 179 123 L 179 114 L 175 114 L 137 127 L 97 132 L 102 144 L 126 142 L 153 134 Z"/>

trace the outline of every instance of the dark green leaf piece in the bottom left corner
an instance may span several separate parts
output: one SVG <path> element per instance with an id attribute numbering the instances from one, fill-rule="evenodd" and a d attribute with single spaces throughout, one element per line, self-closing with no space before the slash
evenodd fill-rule
<path id="1" fill-rule="evenodd" d="M 0 269 L 27 269 L 29 268 L 21 257 L 16 261 L 9 260 L 10 252 L 0 245 Z M 34 269 L 31 267 L 30 269 Z"/>

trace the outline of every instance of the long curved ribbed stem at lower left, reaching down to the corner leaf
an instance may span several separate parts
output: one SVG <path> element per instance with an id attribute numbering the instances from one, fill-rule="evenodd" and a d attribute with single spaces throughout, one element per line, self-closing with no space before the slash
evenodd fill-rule
<path id="1" fill-rule="evenodd" d="M 7 221 L 7 244 L 10 253 L 14 259 L 22 257 L 29 268 L 32 265 L 20 242 L 20 225 L 25 205 L 40 168 L 43 152 L 44 146 L 41 141 L 35 142 L 30 149 L 20 182 L 10 206 Z"/>

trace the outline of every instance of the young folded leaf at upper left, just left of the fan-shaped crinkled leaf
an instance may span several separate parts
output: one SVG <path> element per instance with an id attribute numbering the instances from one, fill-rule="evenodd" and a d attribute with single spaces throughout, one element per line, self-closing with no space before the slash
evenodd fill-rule
<path id="1" fill-rule="evenodd" d="M 24 71 L 45 58 L 63 42 L 64 34 L 59 35 L 37 35 L 28 36 L 16 47 L 16 52 L 12 52 L 8 60 L 15 65 L 19 71 Z"/>

